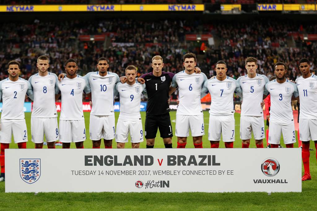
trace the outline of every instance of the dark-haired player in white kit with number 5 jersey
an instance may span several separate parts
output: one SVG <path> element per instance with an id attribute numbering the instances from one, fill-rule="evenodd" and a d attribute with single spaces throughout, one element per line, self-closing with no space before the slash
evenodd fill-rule
<path id="1" fill-rule="evenodd" d="M 257 74 L 257 59 L 248 57 L 245 60 L 245 68 L 248 74 L 240 76 L 238 83 L 242 89 L 242 105 L 240 118 L 240 138 L 242 148 L 249 148 L 251 132 L 256 139 L 256 147 L 263 148 L 264 118 L 261 103 L 268 94 L 265 84 L 268 78 L 265 75 Z"/>

